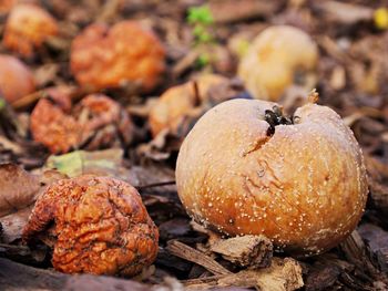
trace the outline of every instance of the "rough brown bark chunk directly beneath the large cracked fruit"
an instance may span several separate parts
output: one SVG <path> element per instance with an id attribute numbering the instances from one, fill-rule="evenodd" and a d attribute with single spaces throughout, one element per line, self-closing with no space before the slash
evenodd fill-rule
<path id="1" fill-rule="evenodd" d="M 213 242 L 211 251 L 241 267 L 264 268 L 270 266 L 273 245 L 264 236 L 243 236 L 219 239 Z"/>

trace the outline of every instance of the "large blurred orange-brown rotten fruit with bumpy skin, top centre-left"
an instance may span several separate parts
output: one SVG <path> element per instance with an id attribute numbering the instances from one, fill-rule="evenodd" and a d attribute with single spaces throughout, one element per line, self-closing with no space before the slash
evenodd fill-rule
<path id="1" fill-rule="evenodd" d="M 131 83 L 152 90 L 165 70 L 165 51 L 152 31 L 135 21 L 108 28 L 91 24 L 72 42 L 71 71 L 81 85 L 95 90 Z"/>

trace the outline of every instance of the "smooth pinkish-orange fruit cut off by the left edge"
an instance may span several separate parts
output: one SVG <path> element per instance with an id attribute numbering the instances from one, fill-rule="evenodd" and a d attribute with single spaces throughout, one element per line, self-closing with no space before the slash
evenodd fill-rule
<path id="1" fill-rule="evenodd" d="M 0 54 L 0 94 L 9 102 L 35 91 L 30 69 L 14 56 Z"/>

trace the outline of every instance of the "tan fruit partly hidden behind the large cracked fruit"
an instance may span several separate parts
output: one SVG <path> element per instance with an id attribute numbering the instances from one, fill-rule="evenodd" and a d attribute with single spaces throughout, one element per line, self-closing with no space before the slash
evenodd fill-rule
<path id="1" fill-rule="evenodd" d="M 232 93 L 228 96 L 227 90 Z M 163 129 L 169 129 L 173 134 L 184 131 L 182 135 L 185 136 L 191 129 L 182 128 L 185 119 L 194 123 L 206 110 L 237 95 L 238 90 L 233 90 L 231 80 L 216 74 L 203 74 L 193 81 L 169 89 L 150 112 L 152 135 L 155 137 Z"/>

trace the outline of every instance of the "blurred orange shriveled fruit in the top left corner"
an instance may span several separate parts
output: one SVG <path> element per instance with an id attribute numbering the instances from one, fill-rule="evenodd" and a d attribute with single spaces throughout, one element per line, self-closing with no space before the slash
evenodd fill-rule
<path id="1" fill-rule="evenodd" d="M 12 8 L 6 23 L 3 44 L 30 58 L 43 42 L 58 34 L 57 20 L 42 8 L 23 3 Z"/>

